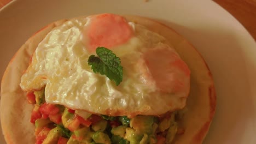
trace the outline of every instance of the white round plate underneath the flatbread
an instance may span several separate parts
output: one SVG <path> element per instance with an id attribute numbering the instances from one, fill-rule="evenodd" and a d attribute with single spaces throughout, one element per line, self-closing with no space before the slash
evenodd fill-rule
<path id="1" fill-rule="evenodd" d="M 205 58 L 216 86 L 216 116 L 204 143 L 256 143 L 256 44 L 234 17 L 212 1 L 11 2 L 0 10 L 0 75 L 19 47 L 41 27 L 95 13 L 152 17 L 182 34 Z"/>

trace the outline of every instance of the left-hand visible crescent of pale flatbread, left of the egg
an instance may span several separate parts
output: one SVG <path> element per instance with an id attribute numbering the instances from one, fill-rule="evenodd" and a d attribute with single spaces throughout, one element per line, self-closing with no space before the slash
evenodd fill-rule
<path id="1" fill-rule="evenodd" d="M 22 73 L 27 69 L 30 57 L 45 35 L 66 20 L 56 21 L 44 27 L 24 45 L 8 64 L 1 83 L 1 125 L 7 143 L 35 143 L 34 125 L 30 123 L 33 105 L 28 104 L 26 93 L 20 88 Z"/>

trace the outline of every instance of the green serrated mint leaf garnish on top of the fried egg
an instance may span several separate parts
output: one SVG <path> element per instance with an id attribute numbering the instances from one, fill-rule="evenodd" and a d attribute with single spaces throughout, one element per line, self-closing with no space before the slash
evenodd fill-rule
<path id="1" fill-rule="evenodd" d="M 123 81 L 123 67 L 120 58 L 106 47 L 97 47 L 96 53 L 98 57 L 91 55 L 88 59 L 91 69 L 94 73 L 106 75 L 118 86 Z"/>

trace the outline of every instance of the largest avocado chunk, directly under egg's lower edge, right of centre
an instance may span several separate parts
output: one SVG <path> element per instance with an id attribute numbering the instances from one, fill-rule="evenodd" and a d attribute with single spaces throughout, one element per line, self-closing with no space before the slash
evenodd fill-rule
<path id="1" fill-rule="evenodd" d="M 135 129 L 139 134 L 153 134 L 153 116 L 136 116 L 131 119 L 130 127 Z"/>

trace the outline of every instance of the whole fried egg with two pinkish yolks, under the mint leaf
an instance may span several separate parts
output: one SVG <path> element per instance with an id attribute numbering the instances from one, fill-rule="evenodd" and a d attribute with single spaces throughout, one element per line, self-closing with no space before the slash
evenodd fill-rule
<path id="1" fill-rule="evenodd" d="M 109 116 L 161 115 L 182 109 L 190 70 L 161 35 L 114 14 L 72 19 L 38 45 L 21 77 L 24 91 L 45 87 L 46 103 Z M 121 60 L 116 86 L 88 65 L 104 46 Z"/>

